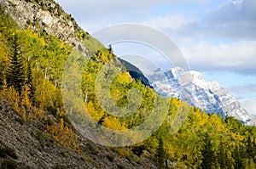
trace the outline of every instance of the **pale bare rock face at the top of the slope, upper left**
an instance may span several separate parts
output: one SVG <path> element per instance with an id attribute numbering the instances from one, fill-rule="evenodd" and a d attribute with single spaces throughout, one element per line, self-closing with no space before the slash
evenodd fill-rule
<path id="1" fill-rule="evenodd" d="M 84 31 L 54 0 L 0 0 L 0 5 L 20 29 L 29 27 L 39 34 L 43 31 L 72 44 L 85 54 L 86 48 L 76 35 Z"/>

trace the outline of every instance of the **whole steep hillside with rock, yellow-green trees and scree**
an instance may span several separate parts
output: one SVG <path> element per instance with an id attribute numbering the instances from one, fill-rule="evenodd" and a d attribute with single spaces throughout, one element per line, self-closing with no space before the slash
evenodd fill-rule
<path id="1" fill-rule="evenodd" d="M 255 127 L 160 97 L 54 1 L 0 4 L 1 168 L 255 168 Z M 84 63 L 79 83 L 68 86 Z M 116 114 L 104 107 L 113 103 Z M 137 109 L 128 116 L 130 105 Z M 95 125 L 83 121 L 88 115 Z M 131 135 L 119 138 L 102 127 Z M 150 135 L 140 140 L 136 127 Z"/>

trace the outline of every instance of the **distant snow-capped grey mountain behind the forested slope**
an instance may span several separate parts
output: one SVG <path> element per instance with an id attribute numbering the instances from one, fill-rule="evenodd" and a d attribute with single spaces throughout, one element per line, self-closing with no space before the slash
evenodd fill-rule
<path id="1" fill-rule="evenodd" d="M 151 86 L 164 97 L 176 97 L 199 107 L 207 113 L 234 116 L 247 125 L 254 125 L 254 117 L 218 82 L 207 82 L 198 71 L 185 71 L 176 67 L 171 70 L 155 70 L 146 75 Z"/>

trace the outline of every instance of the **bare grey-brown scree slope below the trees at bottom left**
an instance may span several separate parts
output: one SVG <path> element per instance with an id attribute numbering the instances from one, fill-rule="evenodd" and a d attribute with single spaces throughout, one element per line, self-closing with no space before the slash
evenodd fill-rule
<path id="1" fill-rule="evenodd" d="M 56 121 L 47 112 L 23 121 L 0 100 L 0 168 L 157 168 L 148 152 L 137 156 L 129 149 L 102 147 L 78 132 L 81 152 L 61 146 L 49 136 L 44 119 Z"/>

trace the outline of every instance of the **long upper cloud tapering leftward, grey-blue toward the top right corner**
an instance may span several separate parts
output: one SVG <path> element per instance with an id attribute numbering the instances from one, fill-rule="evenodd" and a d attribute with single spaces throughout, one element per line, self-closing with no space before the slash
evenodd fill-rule
<path id="1" fill-rule="evenodd" d="M 195 11 L 196 14 L 198 11 Z M 145 20 L 150 26 L 174 37 L 214 37 L 222 39 L 256 40 L 256 1 L 229 1 L 218 8 L 207 9 L 204 15 L 166 14 Z"/>

